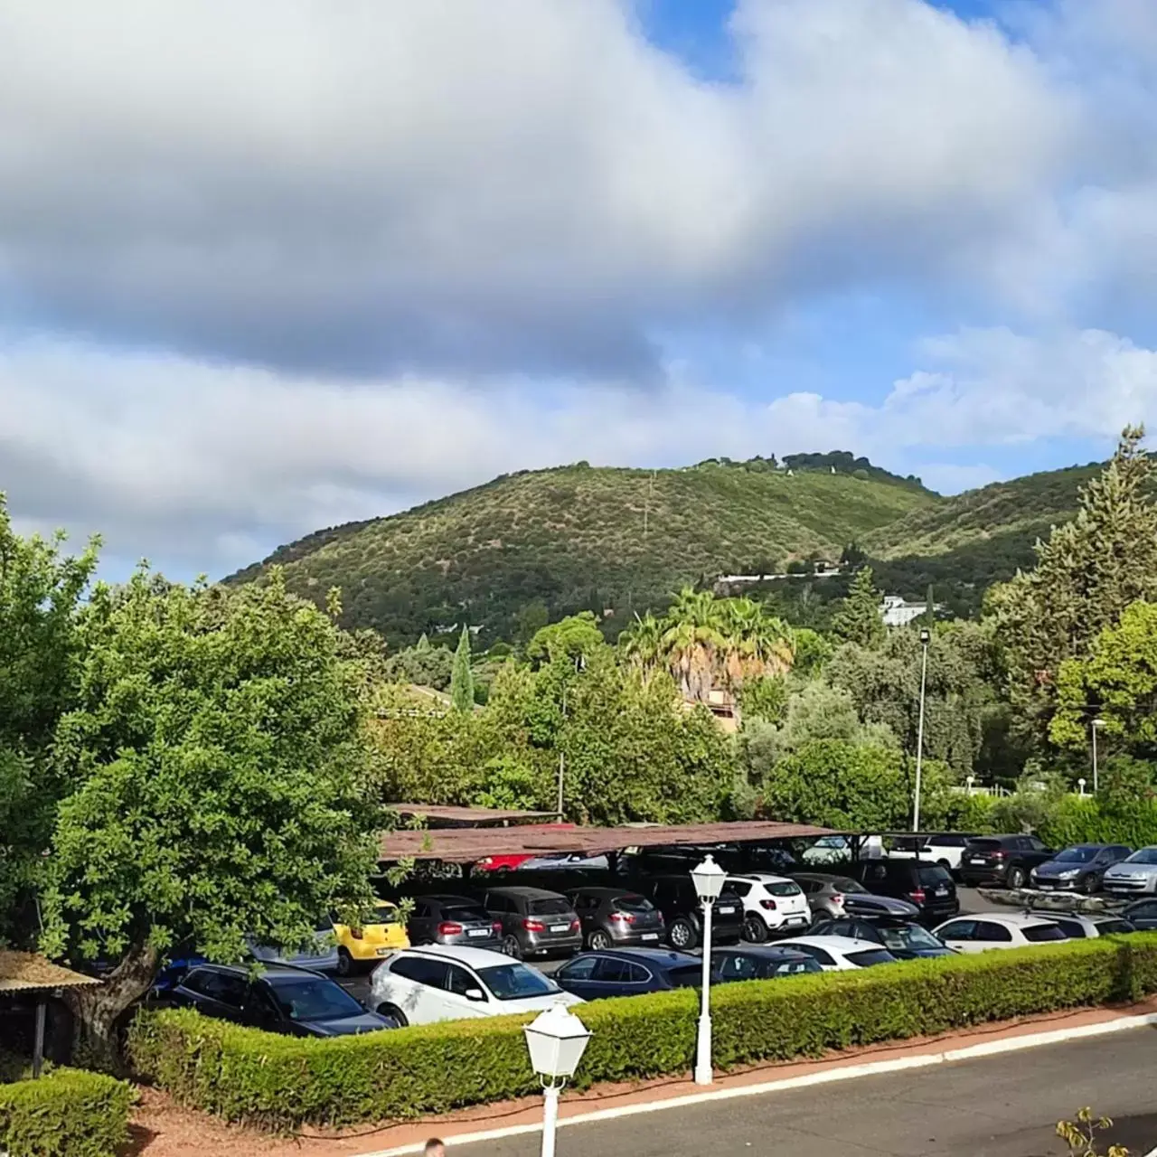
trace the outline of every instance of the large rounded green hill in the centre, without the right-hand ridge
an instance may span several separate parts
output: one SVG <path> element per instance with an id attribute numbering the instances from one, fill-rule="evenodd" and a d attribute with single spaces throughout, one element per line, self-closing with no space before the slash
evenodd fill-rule
<path id="1" fill-rule="evenodd" d="M 484 626 L 484 642 L 510 639 L 537 603 L 552 617 L 613 609 L 613 628 L 683 583 L 834 561 L 849 541 L 944 501 L 850 455 L 811 457 L 790 474 L 764 459 L 521 472 L 318 531 L 231 581 L 282 563 L 311 598 L 340 587 L 347 625 L 376 627 L 395 648 L 463 619 Z"/>

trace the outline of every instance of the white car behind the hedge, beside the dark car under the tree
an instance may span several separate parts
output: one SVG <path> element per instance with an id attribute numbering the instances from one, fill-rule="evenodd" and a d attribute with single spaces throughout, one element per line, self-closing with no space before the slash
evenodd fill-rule
<path id="1" fill-rule="evenodd" d="M 455 944 L 396 952 L 375 970 L 369 998 L 400 1025 L 541 1012 L 557 1003 L 582 1000 L 503 952 Z"/>

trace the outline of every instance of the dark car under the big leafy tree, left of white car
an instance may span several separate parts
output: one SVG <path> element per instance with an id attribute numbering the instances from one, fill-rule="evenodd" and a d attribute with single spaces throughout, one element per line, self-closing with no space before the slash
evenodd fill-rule
<path id="1" fill-rule="evenodd" d="M 367 1012 L 329 977 L 283 965 L 255 977 L 234 965 L 202 964 L 185 974 L 169 998 L 205 1016 L 293 1037 L 347 1037 L 398 1026 Z"/>

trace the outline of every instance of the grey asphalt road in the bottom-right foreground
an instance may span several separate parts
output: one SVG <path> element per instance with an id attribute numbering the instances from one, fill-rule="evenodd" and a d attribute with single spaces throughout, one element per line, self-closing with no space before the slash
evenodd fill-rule
<path id="1" fill-rule="evenodd" d="M 1054 1129 L 1089 1105 L 1113 1118 L 1101 1148 L 1157 1145 L 1157 1031 L 1137 1029 L 1007 1056 L 563 1127 L 559 1157 L 1054 1157 Z M 535 1157 L 540 1137 L 464 1145 L 463 1157 Z M 456 1147 L 455 1152 L 459 1149 Z"/>

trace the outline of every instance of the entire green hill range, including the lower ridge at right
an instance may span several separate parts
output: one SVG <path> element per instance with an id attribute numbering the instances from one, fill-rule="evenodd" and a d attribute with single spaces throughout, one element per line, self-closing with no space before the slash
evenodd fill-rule
<path id="1" fill-rule="evenodd" d="M 931 582 L 937 600 L 973 613 L 986 587 L 1031 563 L 1037 537 L 1071 516 L 1097 469 L 944 499 L 845 452 L 658 471 L 580 463 L 318 531 L 229 581 L 282 563 L 314 599 L 340 587 L 346 625 L 375 627 L 391 649 L 463 621 L 486 644 L 583 609 L 613 611 L 613 634 L 684 583 L 834 562 L 856 543 L 885 590 L 922 595 Z M 839 580 L 812 585 L 821 600 L 842 592 Z"/>

